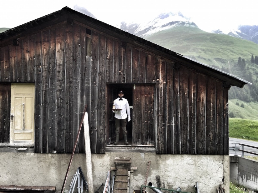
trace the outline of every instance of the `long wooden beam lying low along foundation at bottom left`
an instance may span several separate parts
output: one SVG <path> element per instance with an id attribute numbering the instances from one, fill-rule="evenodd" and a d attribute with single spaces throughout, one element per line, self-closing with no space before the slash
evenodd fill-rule
<path id="1" fill-rule="evenodd" d="M 0 186 L 1 191 L 56 191 L 56 186 Z"/>

